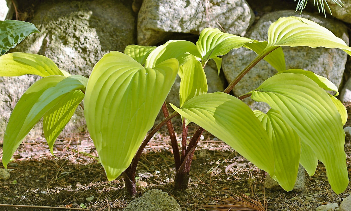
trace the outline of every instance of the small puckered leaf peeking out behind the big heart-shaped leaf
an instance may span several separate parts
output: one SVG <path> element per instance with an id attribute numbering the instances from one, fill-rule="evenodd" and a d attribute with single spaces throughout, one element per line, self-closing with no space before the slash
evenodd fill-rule
<path id="1" fill-rule="evenodd" d="M 124 53 L 132 57 L 140 64 L 145 64 L 147 56 L 155 49 L 155 46 L 129 45 L 124 49 Z"/>

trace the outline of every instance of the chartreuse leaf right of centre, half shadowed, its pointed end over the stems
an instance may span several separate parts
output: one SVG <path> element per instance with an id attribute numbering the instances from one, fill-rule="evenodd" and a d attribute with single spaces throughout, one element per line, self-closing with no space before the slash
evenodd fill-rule
<path id="1" fill-rule="evenodd" d="M 191 98 L 181 108 L 171 106 L 258 168 L 274 174 L 274 157 L 267 132 L 253 111 L 238 98 L 223 92 L 207 93 Z"/>

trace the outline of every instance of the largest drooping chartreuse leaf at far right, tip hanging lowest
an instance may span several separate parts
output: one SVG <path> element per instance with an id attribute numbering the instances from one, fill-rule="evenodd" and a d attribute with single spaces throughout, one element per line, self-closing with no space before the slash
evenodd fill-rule
<path id="1" fill-rule="evenodd" d="M 349 179 L 342 118 L 329 95 L 316 82 L 302 74 L 282 73 L 264 81 L 252 91 L 251 98 L 278 110 L 301 141 L 324 163 L 332 189 L 336 193 L 346 189 Z M 301 159 L 308 157 L 302 155 Z"/>

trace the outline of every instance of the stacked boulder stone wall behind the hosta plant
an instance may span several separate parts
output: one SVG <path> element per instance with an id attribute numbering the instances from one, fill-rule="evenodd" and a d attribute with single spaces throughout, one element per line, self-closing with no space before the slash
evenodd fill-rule
<path id="1" fill-rule="evenodd" d="M 252 39 L 266 39 L 270 23 L 283 16 L 302 16 L 328 28 L 349 43 L 351 1 L 343 0 L 344 7 L 331 5 L 333 16 L 318 14 L 313 5 L 299 15 L 294 13 L 297 2 L 293 0 L 17 0 L 17 13 L 12 1 L 0 0 L 0 20 L 5 17 L 33 22 L 40 34 L 33 34 L 14 51 L 41 54 L 52 59 L 60 69 L 71 74 L 89 76 L 94 64 L 111 50 L 123 52 L 130 44 L 160 45 L 169 39 L 196 41 L 206 27 Z M 310 3 L 313 2 L 310 0 Z M 7 3 L 7 4 L 6 4 Z M 5 8 L 6 7 L 6 8 Z M 7 9 L 8 8 L 8 9 Z M 7 14 L 7 11 L 8 14 Z M 287 68 L 302 68 L 329 78 L 342 88 L 347 54 L 338 49 L 311 49 L 307 47 L 284 48 Z M 206 74 L 209 92 L 223 91 L 235 74 L 253 58 L 247 49 L 235 49 L 223 57 L 222 70 L 217 77 L 216 65 L 208 63 Z M 233 94 L 238 96 L 252 90 L 273 75 L 274 70 L 261 61 L 245 76 Z M 250 80 L 249 80 L 250 79 Z M 253 82 L 252 82 L 253 79 Z M 2 139 L 11 110 L 21 94 L 38 77 L 0 77 L 0 139 Z M 227 81 L 228 82 L 227 82 Z M 346 83 L 350 84 L 351 82 Z M 179 80 L 167 98 L 179 104 Z M 346 87 L 346 89 L 348 89 Z M 344 91 L 347 93 L 347 91 Z M 344 97 L 344 96 L 342 96 Z M 344 97 L 345 99 L 347 97 Z M 343 98 L 343 99 L 344 99 Z M 351 97 L 347 98 L 351 100 Z M 253 109 L 267 110 L 266 105 L 246 101 Z M 86 132 L 81 108 L 61 135 Z M 41 125 L 31 132 L 31 137 L 41 136 Z"/>

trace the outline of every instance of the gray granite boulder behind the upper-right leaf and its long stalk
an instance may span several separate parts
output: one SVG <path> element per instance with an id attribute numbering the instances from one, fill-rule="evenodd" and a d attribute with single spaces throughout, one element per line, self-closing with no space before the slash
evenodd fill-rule
<path id="1" fill-rule="evenodd" d="M 338 21 L 325 19 L 324 17 L 316 16 L 310 13 L 298 15 L 294 11 L 278 11 L 268 13 L 245 34 L 246 37 L 256 40 L 267 40 L 267 31 L 272 22 L 280 17 L 300 16 L 326 27 L 331 30 L 336 36 L 342 38 L 347 45 L 349 38 L 347 35 L 346 26 Z M 309 47 L 283 47 L 285 54 L 286 69 L 299 68 L 310 70 L 316 74 L 327 77 L 339 87 L 347 59 L 347 54 L 340 49 L 327 48 L 309 48 Z M 246 48 L 233 49 L 229 54 L 223 57 L 223 72 L 228 82 L 231 82 L 247 64 L 255 57 L 256 53 Z M 258 86 L 277 73 L 269 63 L 262 60 L 233 89 L 235 96 L 245 94 Z M 268 111 L 269 107 L 265 103 L 257 103 L 246 98 L 244 100 L 252 109 Z"/>

